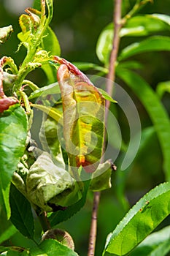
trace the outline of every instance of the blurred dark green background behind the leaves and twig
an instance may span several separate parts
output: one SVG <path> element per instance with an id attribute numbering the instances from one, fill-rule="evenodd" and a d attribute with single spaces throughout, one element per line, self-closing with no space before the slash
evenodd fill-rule
<path id="1" fill-rule="evenodd" d="M 123 13 L 131 9 L 135 1 L 123 1 Z M 21 47 L 18 50 L 19 40 L 17 34 L 20 31 L 18 18 L 26 7 L 31 7 L 31 0 L 0 0 L 0 27 L 12 24 L 14 33 L 7 43 L 1 45 L 0 55 L 11 56 L 20 65 L 26 54 Z M 169 0 L 155 0 L 147 4 L 140 13 L 162 13 L 170 15 Z M 112 21 L 112 0 L 54 0 L 54 17 L 51 27 L 57 34 L 61 44 L 61 56 L 69 61 L 87 61 L 100 64 L 96 56 L 96 42 L 101 30 Z M 169 36 L 168 33 L 163 34 Z M 120 42 L 120 49 L 134 42 L 135 38 L 125 37 Z M 146 53 L 135 57 L 142 62 L 144 68 L 140 71 L 143 78 L 150 83 L 153 89 L 161 81 L 170 80 L 169 64 L 170 53 L 157 52 Z M 36 70 L 28 77 L 38 85 L 45 86 L 47 80 L 42 70 Z M 117 80 L 117 83 L 120 83 Z M 101 255 L 106 236 L 114 230 L 117 223 L 125 215 L 129 206 L 136 203 L 144 193 L 164 181 L 163 159 L 158 138 L 152 129 L 152 123 L 146 110 L 139 99 L 123 83 L 121 86 L 128 91 L 134 100 L 142 124 L 142 143 L 139 152 L 134 159 L 133 165 L 128 170 L 119 171 L 112 175 L 112 189 L 103 192 L 101 204 L 98 211 L 98 236 L 96 244 L 96 255 Z M 169 94 L 163 96 L 163 105 L 170 113 Z M 115 108 L 115 106 L 111 106 Z M 119 110 L 117 110 L 118 112 Z M 119 116 L 121 132 L 124 140 L 128 138 L 128 122 L 124 116 Z M 119 155 L 116 165 L 119 166 L 122 154 Z M 119 169 L 119 168 L 117 168 Z M 62 223 L 59 227 L 67 230 L 74 238 L 76 251 L 81 255 L 87 255 L 88 234 L 90 232 L 90 214 L 93 203 L 93 194 L 89 192 L 87 203 L 84 208 L 72 219 Z M 4 222 L 1 213 L 0 222 Z M 162 224 L 168 225 L 167 218 Z M 39 226 L 38 223 L 36 223 Z M 0 223 L 0 233 L 7 227 L 7 223 Z M 37 228 L 37 236 L 39 228 Z M 15 234 L 7 244 L 20 246 L 31 246 L 28 239 L 23 238 L 19 233 Z"/>

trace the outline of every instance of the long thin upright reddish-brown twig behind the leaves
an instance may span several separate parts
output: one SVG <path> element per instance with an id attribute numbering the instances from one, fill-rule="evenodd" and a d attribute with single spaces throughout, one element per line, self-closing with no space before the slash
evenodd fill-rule
<path id="1" fill-rule="evenodd" d="M 119 49 L 119 32 L 122 26 L 121 23 L 121 5 L 122 0 L 115 0 L 115 8 L 114 8 L 114 18 L 113 23 L 115 25 L 114 29 L 114 37 L 112 42 L 112 52 L 110 55 L 109 61 L 109 73 L 107 76 L 107 93 L 112 96 L 113 91 L 113 82 L 115 81 L 115 64 L 117 60 L 117 52 Z M 109 113 L 109 105 L 110 102 L 106 101 L 106 111 L 105 111 L 105 125 L 107 126 L 107 118 Z M 103 152 L 106 146 L 106 138 L 104 136 L 104 147 Z M 88 246 L 88 256 L 93 256 L 95 254 L 95 246 L 96 246 L 96 233 L 97 233 L 97 215 L 98 215 L 98 205 L 100 201 L 100 192 L 94 192 L 93 197 L 93 211 L 91 217 L 91 226 L 90 226 L 90 238 L 89 238 L 89 246 Z"/>

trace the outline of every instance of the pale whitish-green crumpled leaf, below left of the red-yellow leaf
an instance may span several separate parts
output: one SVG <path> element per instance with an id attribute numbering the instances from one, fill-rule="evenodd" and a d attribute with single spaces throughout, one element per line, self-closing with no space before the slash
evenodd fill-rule
<path id="1" fill-rule="evenodd" d="M 58 205 L 69 206 L 82 196 L 79 184 L 66 170 L 56 166 L 47 152 L 31 165 L 26 189 L 29 200 L 45 211 L 55 211 Z"/>

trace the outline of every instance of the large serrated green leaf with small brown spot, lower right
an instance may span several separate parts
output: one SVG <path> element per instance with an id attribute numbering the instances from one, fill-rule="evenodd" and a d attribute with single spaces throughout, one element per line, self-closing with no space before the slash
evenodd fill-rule
<path id="1" fill-rule="evenodd" d="M 170 184 L 164 183 L 144 195 L 128 211 L 113 233 L 109 234 L 104 252 L 126 255 L 169 214 Z"/>

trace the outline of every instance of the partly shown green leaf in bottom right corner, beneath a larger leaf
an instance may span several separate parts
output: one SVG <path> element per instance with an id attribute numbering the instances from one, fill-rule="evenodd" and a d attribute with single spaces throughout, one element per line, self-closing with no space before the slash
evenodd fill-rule
<path id="1" fill-rule="evenodd" d="M 131 252 L 131 256 L 166 256 L 170 251 L 170 226 L 152 233 Z"/>

